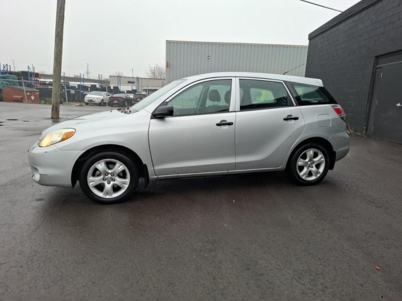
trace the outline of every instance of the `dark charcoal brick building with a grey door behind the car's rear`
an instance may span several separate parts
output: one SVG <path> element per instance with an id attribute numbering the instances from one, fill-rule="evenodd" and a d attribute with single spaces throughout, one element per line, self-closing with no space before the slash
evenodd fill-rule
<path id="1" fill-rule="evenodd" d="M 310 33 L 306 77 L 356 132 L 402 143 L 402 0 L 362 0 Z"/>

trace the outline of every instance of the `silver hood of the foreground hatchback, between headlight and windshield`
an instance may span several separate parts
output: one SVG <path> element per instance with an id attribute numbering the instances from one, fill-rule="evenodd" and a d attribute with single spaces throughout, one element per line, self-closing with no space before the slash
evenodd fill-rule
<path id="1" fill-rule="evenodd" d="M 99 124 L 105 124 L 105 122 L 109 122 L 113 119 L 116 118 L 122 118 L 127 116 L 127 114 L 121 113 L 117 110 L 110 110 L 107 112 L 100 112 L 100 113 L 95 113 L 95 114 L 88 114 L 88 115 L 82 115 L 78 117 L 74 117 L 62 122 L 59 122 L 46 130 L 43 131 L 42 136 L 45 136 L 51 131 L 54 130 L 59 130 L 61 128 L 80 128 L 80 127 L 95 127 L 99 126 Z M 114 120 L 112 122 L 115 122 Z"/>

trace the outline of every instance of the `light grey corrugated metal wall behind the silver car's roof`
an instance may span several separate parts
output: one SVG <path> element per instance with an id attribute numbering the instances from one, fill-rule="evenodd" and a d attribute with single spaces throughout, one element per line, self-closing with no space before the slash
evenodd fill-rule
<path id="1" fill-rule="evenodd" d="M 241 71 L 304 76 L 308 46 L 166 41 L 166 80 Z M 209 59 L 207 57 L 210 57 Z"/>

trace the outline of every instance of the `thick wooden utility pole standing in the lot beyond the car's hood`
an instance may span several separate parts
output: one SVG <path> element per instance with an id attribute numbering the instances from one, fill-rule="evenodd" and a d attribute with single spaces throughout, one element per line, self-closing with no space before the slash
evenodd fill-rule
<path id="1" fill-rule="evenodd" d="M 59 118 L 60 84 L 62 77 L 64 8 L 66 0 L 57 0 L 56 29 L 54 35 L 53 88 L 51 92 L 51 118 Z"/>

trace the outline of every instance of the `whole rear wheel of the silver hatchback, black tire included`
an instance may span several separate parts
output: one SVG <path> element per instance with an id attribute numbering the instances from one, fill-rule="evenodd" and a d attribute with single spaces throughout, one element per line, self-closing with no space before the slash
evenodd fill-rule
<path id="1" fill-rule="evenodd" d="M 295 183 L 314 185 L 328 173 L 329 160 L 328 150 L 322 144 L 304 144 L 289 158 L 286 172 Z"/>

